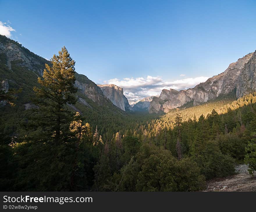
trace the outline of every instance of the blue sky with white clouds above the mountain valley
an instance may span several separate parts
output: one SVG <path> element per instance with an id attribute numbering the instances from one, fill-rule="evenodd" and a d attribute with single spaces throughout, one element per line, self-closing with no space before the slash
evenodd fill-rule
<path id="1" fill-rule="evenodd" d="M 0 33 L 48 59 L 65 45 L 78 73 L 123 87 L 130 100 L 193 87 L 256 49 L 255 0 L 0 0 L 0 8 Z"/>

